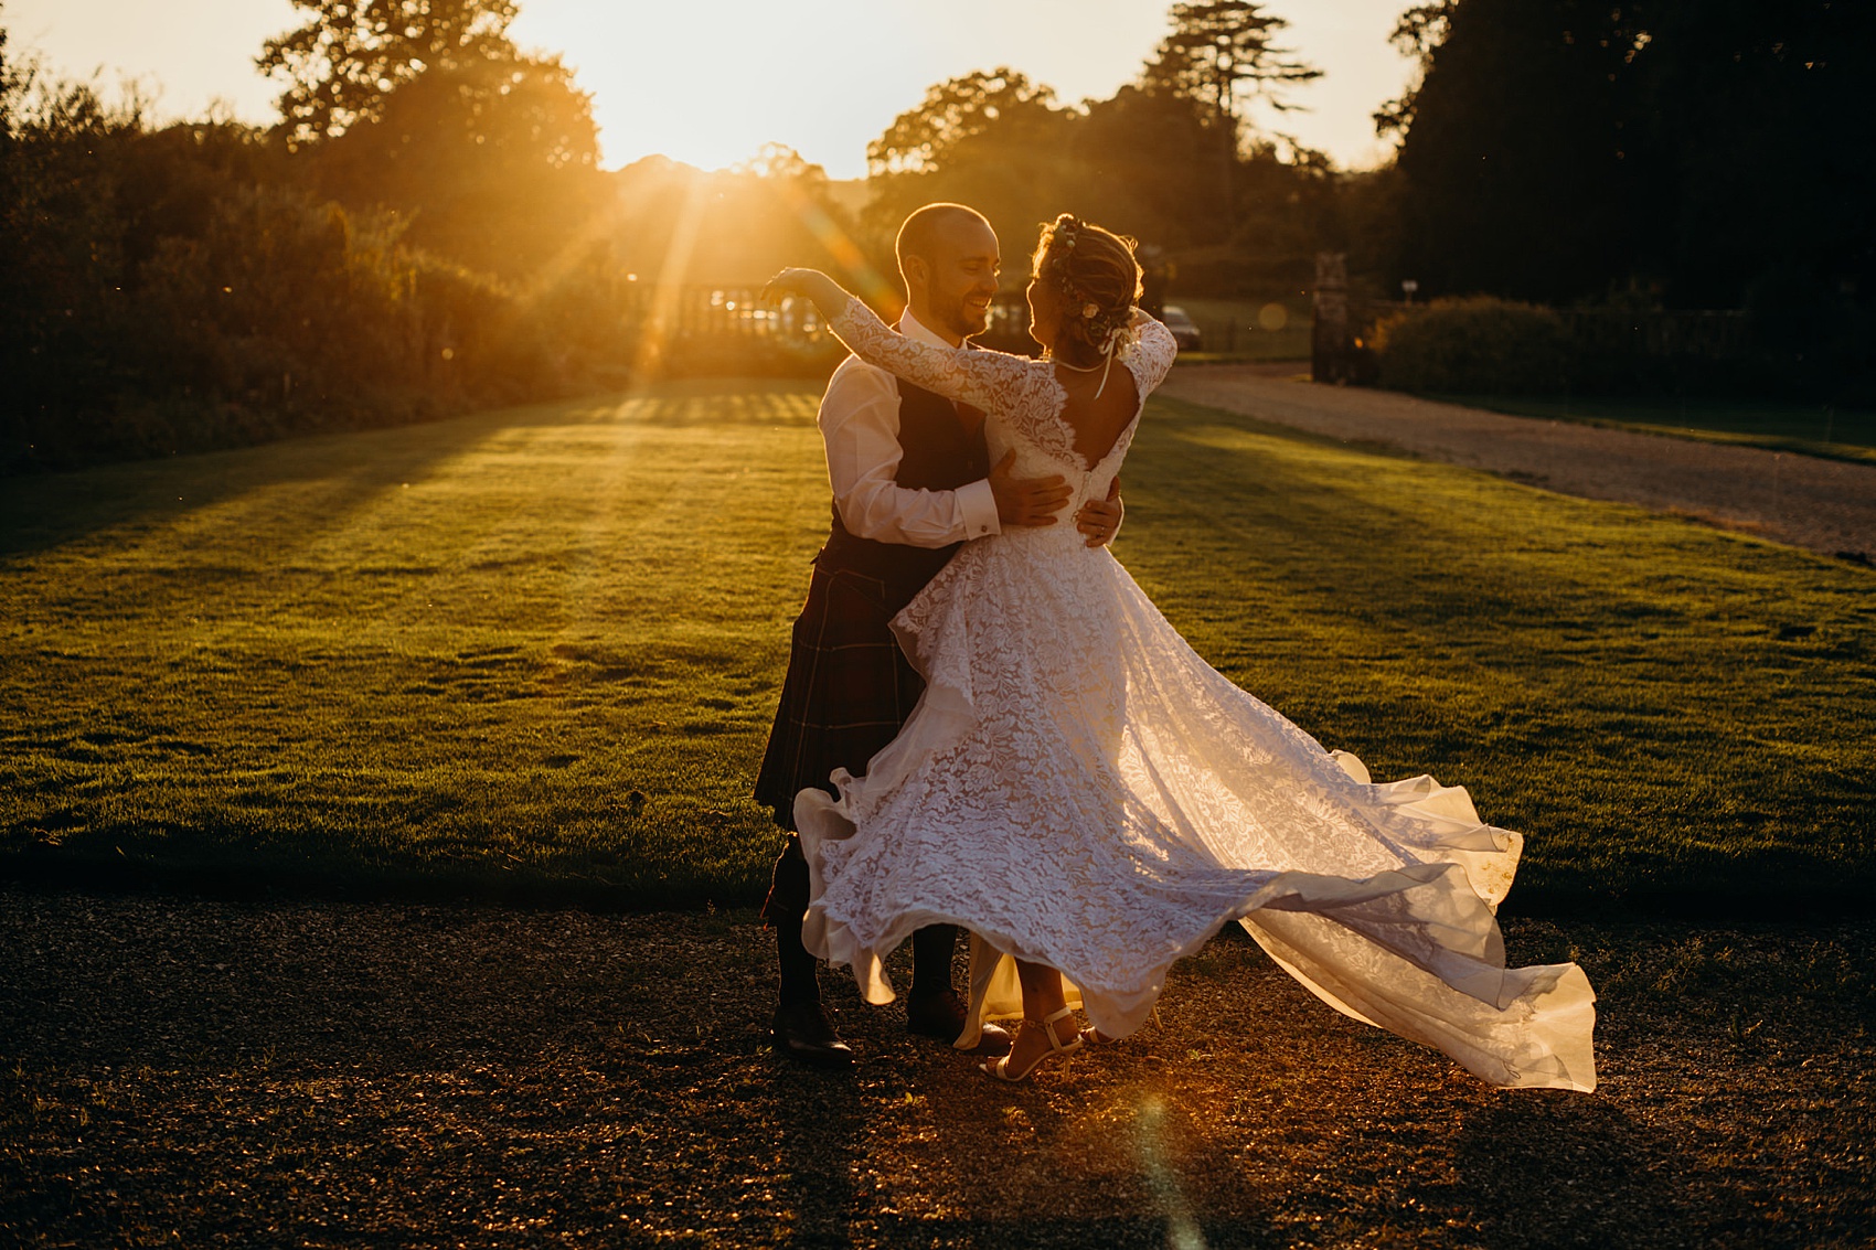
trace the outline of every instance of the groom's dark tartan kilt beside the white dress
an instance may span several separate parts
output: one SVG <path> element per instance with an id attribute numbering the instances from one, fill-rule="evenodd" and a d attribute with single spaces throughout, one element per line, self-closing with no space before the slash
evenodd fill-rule
<path id="1" fill-rule="evenodd" d="M 833 563 L 833 561 L 829 561 Z M 837 768 L 865 773 L 899 736 L 925 693 L 893 638 L 891 619 L 917 593 L 854 569 L 814 565 L 807 602 L 795 619 L 769 749 L 756 775 L 756 801 L 775 824 L 795 828 L 795 794 L 820 786 Z"/>

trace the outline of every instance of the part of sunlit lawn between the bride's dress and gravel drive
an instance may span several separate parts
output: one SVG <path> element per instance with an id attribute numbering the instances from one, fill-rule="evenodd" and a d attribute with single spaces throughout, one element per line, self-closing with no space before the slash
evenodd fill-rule
<path id="1" fill-rule="evenodd" d="M 1512 899 L 1853 895 L 1876 578 L 1643 509 L 1165 402 L 1122 557 L 1193 646 L 1377 777 L 1529 835 Z M 1203 572 L 1201 572 L 1203 571 Z"/>

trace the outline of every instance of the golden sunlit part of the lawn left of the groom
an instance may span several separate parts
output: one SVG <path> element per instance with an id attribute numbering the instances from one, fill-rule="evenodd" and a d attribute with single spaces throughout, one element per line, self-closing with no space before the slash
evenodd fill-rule
<path id="1" fill-rule="evenodd" d="M 11 484 L 11 850 L 747 897 L 814 398 L 670 387 Z"/>

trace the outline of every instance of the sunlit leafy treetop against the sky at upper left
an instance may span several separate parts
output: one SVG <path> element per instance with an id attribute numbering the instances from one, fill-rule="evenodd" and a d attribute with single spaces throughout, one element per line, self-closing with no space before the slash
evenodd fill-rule
<path id="1" fill-rule="evenodd" d="M 287 81 L 289 143 L 332 139 L 379 116 L 398 86 L 428 69 L 514 60 L 516 0 L 293 0 L 304 26 L 268 39 L 255 64 Z"/>

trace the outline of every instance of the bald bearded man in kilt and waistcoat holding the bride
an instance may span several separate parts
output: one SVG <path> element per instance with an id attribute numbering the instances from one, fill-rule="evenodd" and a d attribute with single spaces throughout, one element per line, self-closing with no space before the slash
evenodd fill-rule
<path id="1" fill-rule="evenodd" d="M 991 325 L 1002 265 L 991 223 L 962 205 L 927 205 L 899 227 L 906 313 L 899 332 L 961 347 Z M 966 426 L 968 422 L 968 426 Z M 794 835 L 795 792 L 837 768 L 865 773 L 925 689 L 889 621 L 951 559 L 964 539 L 1009 526 L 1052 526 L 1067 503 L 1060 477 L 1017 479 L 1015 452 L 991 465 L 983 415 L 848 357 L 822 396 L 818 417 L 833 486 L 833 524 L 814 557 L 809 597 L 795 619 L 788 676 L 756 779 L 756 800 L 790 830 L 762 912 L 775 927 L 780 1006 L 771 1038 L 794 1059 L 844 1066 L 854 1053 L 820 1002 L 814 957 L 801 944 L 809 865 Z M 1116 484 L 1118 486 L 1118 484 Z M 1090 544 L 1120 527 L 1120 501 L 1077 514 Z M 955 1042 L 964 1002 L 951 987 L 953 925 L 912 935 L 906 1029 Z"/>

